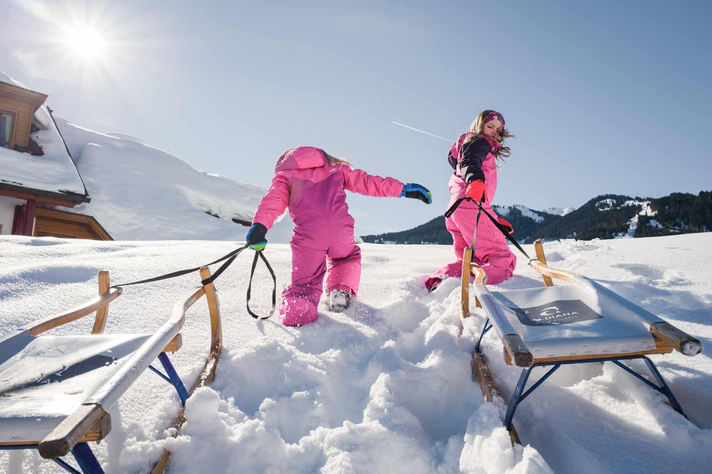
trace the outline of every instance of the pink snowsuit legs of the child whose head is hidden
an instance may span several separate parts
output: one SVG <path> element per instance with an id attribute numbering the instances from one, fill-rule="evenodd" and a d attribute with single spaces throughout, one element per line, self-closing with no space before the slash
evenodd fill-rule
<path id="1" fill-rule="evenodd" d="M 353 237 L 346 240 L 332 242 L 328 248 L 313 249 L 295 233 L 290 243 L 292 284 L 284 289 L 280 306 L 284 325 L 301 326 L 315 321 L 324 276 L 327 293 L 341 289 L 352 296 L 357 295 L 361 280 L 361 249 Z"/>

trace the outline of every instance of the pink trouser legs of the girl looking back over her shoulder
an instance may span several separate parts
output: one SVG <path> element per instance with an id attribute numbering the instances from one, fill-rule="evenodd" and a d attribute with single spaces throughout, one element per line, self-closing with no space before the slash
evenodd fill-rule
<path id="1" fill-rule="evenodd" d="M 463 201 L 459 208 L 453 212 L 453 215 L 445 220 L 445 227 L 452 234 L 457 260 L 442 267 L 433 276 L 438 276 L 439 278 L 444 278 L 444 276 L 461 277 L 462 252 L 472 243 L 477 209 L 476 204 Z M 492 217 L 497 217 L 491 208 L 485 209 Z M 512 276 L 514 267 L 517 264 L 517 257 L 507 246 L 506 237 L 484 215 L 484 212 L 480 215 L 480 222 L 477 225 L 474 262 L 485 271 L 487 284 L 491 285 L 501 283 Z M 473 279 L 472 275 L 470 275 L 470 279 Z"/>

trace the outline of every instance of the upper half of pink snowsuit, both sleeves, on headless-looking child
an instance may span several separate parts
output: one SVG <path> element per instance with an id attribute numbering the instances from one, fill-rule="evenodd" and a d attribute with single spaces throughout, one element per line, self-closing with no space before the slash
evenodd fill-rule
<path id="1" fill-rule="evenodd" d="M 381 198 L 397 198 L 403 190 L 403 183 L 394 178 L 330 164 L 326 153 L 313 146 L 289 149 L 274 171 L 252 223 L 260 222 L 269 230 L 289 208 L 294 236 L 303 237 L 303 243 L 315 249 L 328 248 L 334 238 L 353 239 L 354 220 L 348 213 L 345 190 Z"/>

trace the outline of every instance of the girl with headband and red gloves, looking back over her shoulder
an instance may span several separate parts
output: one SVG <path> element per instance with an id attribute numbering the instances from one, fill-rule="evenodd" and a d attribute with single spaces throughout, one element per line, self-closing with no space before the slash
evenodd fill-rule
<path id="1" fill-rule="evenodd" d="M 459 136 L 450 149 L 448 161 L 455 170 L 450 178 L 450 203 L 448 208 L 460 198 L 471 198 L 482 204 L 482 208 L 497 219 L 491 205 L 497 189 L 496 158 L 504 153 L 509 156 L 508 147 L 501 141 L 511 136 L 504 129 L 504 118 L 499 112 L 485 110 L 472 122 L 470 131 Z M 507 240 L 500 230 L 484 215 L 476 225 L 478 206 L 465 200 L 455 212 L 445 220 L 445 227 L 451 233 L 456 261 L 447 264 L 427 279 L 425 286 L 433 291 L 448 276 L 460 278 L 464 249 L 472 243 L 477 226 L 474 262 L 487 274 L 488 284 L 505 281 L 514 272 L 516 256 L 507 246 Z M 511 225 L 501 217 L 498 221 L 511 229 Z M 472 275 L 471 275 L 472 278 Z"/>

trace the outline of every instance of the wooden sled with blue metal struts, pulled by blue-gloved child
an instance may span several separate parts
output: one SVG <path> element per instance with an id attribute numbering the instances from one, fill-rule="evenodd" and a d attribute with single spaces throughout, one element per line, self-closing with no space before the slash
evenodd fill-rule
<path id="1" fill-rule="evenodd" d="M 203 267 L 200 274 L 202 279 L 209 278 L 210 270 Z M 43 458 L 70 473 L 103 473 L 88 442 L 107 436 L 111 430 L 108 411 L 145 370 L 172 384 L 183 405 L 196 387 L 214 377 L 222 328 L 213 284 L 184 295 L 169 320 L 154 333 L 103 334 L 109 303 L 121 293 L 120 287 L 110 288 L 108 271 L 101 271 L 99 296 L 93 300 L 0 337 L 0 450 L 38 449 Z M 189 392 L 166 352 L 181 348 L 186 312 L 203 295 L 210 311 L 211 349 Z M 94 312 L 91 335 L 42 335 Z M 156 358 L 166 375 L 150 365 Z M 62 459 L 68 453 L 81 471 Z"/>

